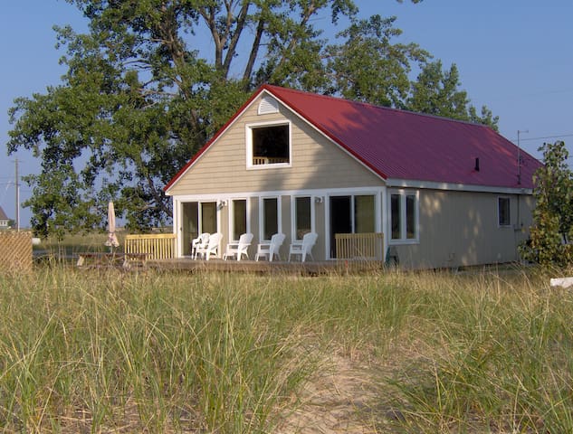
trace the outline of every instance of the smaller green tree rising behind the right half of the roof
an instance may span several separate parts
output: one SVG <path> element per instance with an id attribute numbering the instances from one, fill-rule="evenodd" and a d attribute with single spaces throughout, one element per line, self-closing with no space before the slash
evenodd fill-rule
<path id="1" fill-rule="evenodd" d="M 488 125 L 497 131 L 499 118 L 493 117 L 492 111 L 485 106 L 482 107 L 482 116 L 478 115 L 477 110 L 470 105 L 467 92 L 459 89 L 460 84 L 460 74 L 455 63 L 449 71 L 444 71 L 442 61 L 428 62 L 417 80 L 412 82 L 406 108 Z"/>

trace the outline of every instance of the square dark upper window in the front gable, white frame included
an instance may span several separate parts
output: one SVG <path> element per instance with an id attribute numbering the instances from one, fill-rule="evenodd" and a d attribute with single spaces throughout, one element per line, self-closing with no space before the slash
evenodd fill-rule
<path id="1" fill-rule="evenodd" d="M 290 124 L 248 126 L 247 160 L 249 167 L 290 165 Z"/>

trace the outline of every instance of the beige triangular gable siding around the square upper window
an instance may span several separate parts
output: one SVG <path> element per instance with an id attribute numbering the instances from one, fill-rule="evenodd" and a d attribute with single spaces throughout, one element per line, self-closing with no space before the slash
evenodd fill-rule
<path id="1" fill-rule="evenodd" d="M 258 115 L 258 105 L 259 99 L 255 99 L 169 193 L 263 192 L 382 184 L 377 175 L 292 115 L 289 109 L 281 106 L 280 113 Z M 286 118 L 291 119 L 291 167 L 248 169 L 246 125 Z"/>

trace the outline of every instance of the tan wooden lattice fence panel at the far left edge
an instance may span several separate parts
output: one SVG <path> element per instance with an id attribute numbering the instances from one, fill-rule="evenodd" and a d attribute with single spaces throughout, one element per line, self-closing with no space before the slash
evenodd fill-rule
<path id="1" fill-rule="evenodd" d="M 0 231 L 0 271 L 30 271 L 32 263 L 32 233 Z"/>

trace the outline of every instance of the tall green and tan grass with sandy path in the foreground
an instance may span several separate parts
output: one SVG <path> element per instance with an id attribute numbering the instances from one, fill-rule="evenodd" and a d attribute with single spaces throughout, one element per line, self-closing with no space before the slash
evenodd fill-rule
<path id="1" fill-rule="evenodd" d="M 539 271 L 0 276 L 5 432 L 573 432 Z"/>

